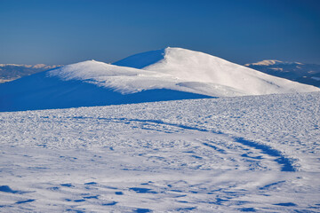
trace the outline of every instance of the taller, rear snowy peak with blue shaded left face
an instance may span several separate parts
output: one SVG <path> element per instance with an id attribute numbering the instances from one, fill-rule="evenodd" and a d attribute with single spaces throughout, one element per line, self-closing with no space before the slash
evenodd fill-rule
<path id="1" fill-rule="evenodd" d="M 156 53 L 157 57 L 154 56 Z M 150 54 L 153 55 L 153 58 L 158 59 L 156 63 L 151 65 L 140 62 L 148 55 L 146 52 L 117 61 L 115 64 L 126 67 L 141 67 L 144 70 L 173 75 L 188 83 L 187 85 L 192 88 L 194 88 L 193 82 L 195 82 L 196 85 L 199 83 L 205 86 L 219 85 L 236 91 L 236 94 L 232 95 L 223 92 L 217 94 L 216 92 L 214 95 L 218 96 L 318 91 L 314 87 L 266 75 L 199 51 L 166 48 L 164 51 L 152 51 Z M 211 95 L 210 93 L 206 94 Z"/>

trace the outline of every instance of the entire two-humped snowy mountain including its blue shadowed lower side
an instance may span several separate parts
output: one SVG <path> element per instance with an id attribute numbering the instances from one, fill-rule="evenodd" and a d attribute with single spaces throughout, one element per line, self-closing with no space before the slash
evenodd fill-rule
<path id="1" fill-rule="evenodd" d="M 0 111 L 320 91 L 198 51 L 84 61 L 0 85 Z"/>

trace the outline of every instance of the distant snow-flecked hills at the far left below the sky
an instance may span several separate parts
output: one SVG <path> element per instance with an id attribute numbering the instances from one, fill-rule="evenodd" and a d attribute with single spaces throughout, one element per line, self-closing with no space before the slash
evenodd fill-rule
<path id="1" fill-rule="evenodd" d="M 16 65 L 0 64 L 0 83 L 11 82 L 26 75 L 33 75 L 44 70 L 60 67 L 60 65 Z"/>

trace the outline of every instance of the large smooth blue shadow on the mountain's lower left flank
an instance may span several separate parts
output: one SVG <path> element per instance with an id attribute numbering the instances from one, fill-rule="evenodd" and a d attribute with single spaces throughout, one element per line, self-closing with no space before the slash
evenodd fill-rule
<path id="1" fill-rule="evenodd" d="M 92 83 L 46 77 L 47 72 L 0 84 L 0 112 L 212 98 L 167 89 L 121 94 Z"/>

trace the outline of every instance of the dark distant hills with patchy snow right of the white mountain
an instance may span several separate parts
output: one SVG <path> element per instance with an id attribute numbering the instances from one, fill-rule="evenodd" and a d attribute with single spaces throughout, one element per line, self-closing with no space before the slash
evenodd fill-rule
<path id="1" fill-rule="evenodd" d="M 262 60 L 256 63 L 245 64 L 244 66 L 251 67 L 268 75 L 320 87 L 320 65 L 284 62 L 280 60 Z"/>

